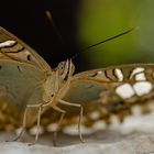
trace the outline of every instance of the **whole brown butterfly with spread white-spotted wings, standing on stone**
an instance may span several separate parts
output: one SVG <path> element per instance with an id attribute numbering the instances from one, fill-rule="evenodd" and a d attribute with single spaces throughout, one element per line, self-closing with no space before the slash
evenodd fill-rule
<path id="1" fill-rule="evenodd" d="M 154 64 L 111 66 L 75 74 L 72 59 L 51 66 L 16 36 L 0 28 L 0 129 L 38 129 L 57 121 L 59 125 L 90 127 L 95 121 L 122 122 L 135 106 L 150 112 L 154 106 Z M 58 114 L 59 118 L 58 118 Z"/>

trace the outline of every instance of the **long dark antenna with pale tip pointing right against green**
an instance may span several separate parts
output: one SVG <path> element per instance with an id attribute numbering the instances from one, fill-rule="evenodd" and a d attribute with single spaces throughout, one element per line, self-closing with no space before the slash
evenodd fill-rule
<path id="1" fill-rule="evenodd" d="M 114 36 L 112 36 L 112 37 L 109 37 L 109 38 L 103 40 L 103 41 L 101 41 L 101 42 L 98 42 L 98 43 L 96 43 L 96 44 L 92 44 L 92 45 L 90 45 L 90 46 L 88 46 L 88 47 L 85 47 L 85 48 L 82 48 L 79 53 L 77 53 L 76 55 L 74 55 L 74 56 L 72 57 L 72 59 L 75 59 L 80 53 L 84 53 L 85 51 L 87 51 L 87 50 L 89 50 L 89 48 L 92 48 L 92 47 L 95 47 L 95 46 L 97 46 L 97 45 L 103 44 L 103 43 L 106 43 L 106 42 L 109 42 L 109 41 L 114 40 L 114 38 L 117 38 L 117 37 L 120 37 L 120 36 L 122 36 L 122 35 L 125 35 L 125 34 L 128 34 L 128 33 L 130 33 L 130 32 L 132 32 L 132 31 L 134 31 L 134 30 L 138 30 L 138 29 L 139 29 L 139 26 L 132 28 L 132 29 L 130 29 L 130 30 L 128 30 L 128 31 L 125 31 L 125 32 L 122 32 L 122 33 L 118 34 L 118 35 L 114 35 Z"/>

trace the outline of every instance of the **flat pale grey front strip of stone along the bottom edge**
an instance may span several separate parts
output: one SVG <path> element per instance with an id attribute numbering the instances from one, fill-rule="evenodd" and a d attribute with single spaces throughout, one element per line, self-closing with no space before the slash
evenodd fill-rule
<path id="1" fill-rule="evenodd" d="M 114 143 L 84 143 L 63 147 L 47 145 L 29 146 L 26 143 L 0 143 L 2 154 L 153 154 L 154 135 L 142 135 Z"/>

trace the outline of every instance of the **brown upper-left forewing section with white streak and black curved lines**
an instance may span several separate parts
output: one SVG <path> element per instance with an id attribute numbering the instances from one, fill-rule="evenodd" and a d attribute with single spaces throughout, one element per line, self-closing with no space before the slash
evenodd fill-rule
<path id="1" fill-rule="evenodd" d="M 3 28 L 0 28 L 0 58 L 33 64 L 43 72 L 51 70 L 48 64 L 34 50 Z"/>

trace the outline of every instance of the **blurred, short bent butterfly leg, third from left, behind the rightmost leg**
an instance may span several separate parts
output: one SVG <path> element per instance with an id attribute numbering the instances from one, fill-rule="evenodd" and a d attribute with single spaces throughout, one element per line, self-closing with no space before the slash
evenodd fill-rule
<path id="1" fill-rule="evenodd" d="M 52 106 L 52 108 L 53 108 L 54 110 L 56 110 L 56 111 L 58 111 L 58 112 L 62 113 L 62 114 L 61 114 L 61 118 L 59 118 L 59 120 L 58 120 L 57 129 L 56 129 L 56 131 L 54 132 L 54 138 L 53 138 L 53 145 L 56 146 L 56 145 L 57 145 L 57 132 L 59 131 L 59 127 L 61 127 L 61 124 L 62 124 L 62 121 L 63 121 L 63 119 L 64 119 L 64 116 L 65 116 L 66 111 L 65 111 L 65 110 L 62 110 L 62 109 L 58 108 L 57 106 Z"/>

